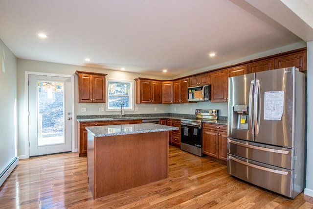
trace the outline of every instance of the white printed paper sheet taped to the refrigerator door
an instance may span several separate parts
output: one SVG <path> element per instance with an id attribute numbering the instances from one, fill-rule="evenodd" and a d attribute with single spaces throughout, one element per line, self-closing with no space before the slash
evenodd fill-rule
<path id="1" fill-rule="evenodd" d="M 284 113 L 284 91 L 264 93 L 264 119 L 281 120 Z"/>

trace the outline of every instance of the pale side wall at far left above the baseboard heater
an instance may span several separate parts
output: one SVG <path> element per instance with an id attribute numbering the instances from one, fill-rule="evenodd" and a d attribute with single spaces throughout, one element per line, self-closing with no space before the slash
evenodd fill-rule
<path id="1" fill-rule="evenodd" d="M 0 40 L 0 173 L 15 158 L 17 59 Z"/>

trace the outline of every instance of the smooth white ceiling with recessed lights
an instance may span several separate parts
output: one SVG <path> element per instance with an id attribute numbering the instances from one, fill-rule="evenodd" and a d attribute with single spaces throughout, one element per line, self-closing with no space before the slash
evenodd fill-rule
<path id="1" fill-rule="evenodd" d="M 303 41 L 247 1 L 0 0 L 0 39 L 21 59 L 169 77 Z"/>

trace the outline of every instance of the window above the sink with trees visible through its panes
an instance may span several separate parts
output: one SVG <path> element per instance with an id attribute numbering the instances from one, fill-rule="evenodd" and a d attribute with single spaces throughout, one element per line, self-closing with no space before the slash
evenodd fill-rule
<path id="1" fill-rule="evenodd" d="M 108 80 L 108 109 L 120 109 L 124 102 L 125 109 L 133 108 L 132 82 Z"/>

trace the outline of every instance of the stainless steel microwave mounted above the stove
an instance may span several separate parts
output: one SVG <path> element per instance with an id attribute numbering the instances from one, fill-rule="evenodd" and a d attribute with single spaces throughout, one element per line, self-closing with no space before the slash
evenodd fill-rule
<path id="1" fill-rule="evenodd" d="M 210 101 L 211 85 L 188 88 L 188 101 Z"/>

